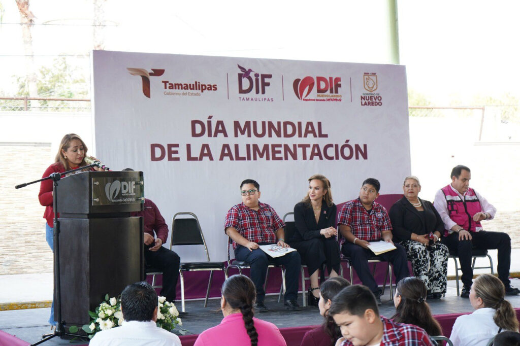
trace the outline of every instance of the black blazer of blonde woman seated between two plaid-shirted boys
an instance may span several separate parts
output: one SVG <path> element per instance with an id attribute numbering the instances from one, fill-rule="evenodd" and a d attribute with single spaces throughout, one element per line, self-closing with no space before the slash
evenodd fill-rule
<path id="1" fill-rule="evenodd" d="M 303 202 L 294 206 L 294 222 L 296 223 L 296 232 L 292 238 L 293 242 L 301 242 L 304 240 L 322 237 L 320 230 L 323 228 L 336 228 L 336 205 L 327 206 L 327 203 L 321 204 L 320 218 L 318 223 L 314 218 L 313 207 L 306 207 Z"/>

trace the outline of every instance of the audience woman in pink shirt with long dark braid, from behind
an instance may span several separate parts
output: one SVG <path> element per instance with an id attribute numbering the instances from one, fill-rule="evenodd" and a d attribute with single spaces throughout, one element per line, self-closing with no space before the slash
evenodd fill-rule
<path id="1" fill-rule="evenodd" d="M 253 317 L 256 289 L 251 279 L 232 275 L 222 285 L 220 310 L 224 319 L 218 326 L 204 330 L 194 346 L 281 346 L 285 345 L 280 330 L 270 322 Z"/>

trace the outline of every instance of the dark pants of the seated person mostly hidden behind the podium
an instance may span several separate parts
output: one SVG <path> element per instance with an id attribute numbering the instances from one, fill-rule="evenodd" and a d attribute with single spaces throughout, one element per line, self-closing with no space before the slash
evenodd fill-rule
<path id="1" fill-rule="evenodd" d="M 161 296 L 166 301 L 175 301 L 175 288 L 179 278 L 180 257 L 172 250 L 161 246 L 157 251 L 148 250 L 150 246 L 145 245 L 145 263 L 163 272 L 163 288 Z"/>

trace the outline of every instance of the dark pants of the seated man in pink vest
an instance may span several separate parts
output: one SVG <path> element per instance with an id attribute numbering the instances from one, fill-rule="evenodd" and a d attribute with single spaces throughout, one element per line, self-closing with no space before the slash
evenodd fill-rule
<path id="1" fill-rule="evenodd" d="M 451 233 L 443 238 L 443 243 L 450 251 L 457 251 L 462 270 L 462 284 L 471 287 L 473 269 L 471 268 L 472 247 L 479 249 L 498 249 L 498 278 L 505 287 L 510 284 L 509 267 L 511 265 L 511 238 L 503 232 L 471 232 L 472 240 L 459 241 L 458 233 Z"/>

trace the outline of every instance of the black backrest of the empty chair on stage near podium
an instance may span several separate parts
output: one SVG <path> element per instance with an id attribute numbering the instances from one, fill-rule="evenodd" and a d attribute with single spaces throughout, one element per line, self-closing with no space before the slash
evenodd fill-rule
<path id="1" fill-rule="evenodd" d="M 179 216 L 190 216 L 179 218 Z M 200 227 L 199 218 L 192 212 L 177 212 L 173 216 L 172 239 L 170 250 L 174 245 L 203 245 L 206 251 L 207 260 L 210 261 L 210 254 L 207 251 L 204 234 Z"/>

